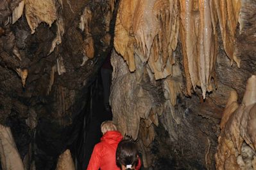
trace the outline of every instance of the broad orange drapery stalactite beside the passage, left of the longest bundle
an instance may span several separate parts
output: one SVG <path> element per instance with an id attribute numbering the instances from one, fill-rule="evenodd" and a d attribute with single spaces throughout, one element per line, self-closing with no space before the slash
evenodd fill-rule
<path id="1" fill-rule="evenodd" d="M 178 38 L 177 21 L 178 1 L 121 1 L 114 43 L 130 71 L 136 69 L 133 54 L 136 53 L 142 62 L 149 62 L 156 80 L 172 74 L 173 51 Z"/>

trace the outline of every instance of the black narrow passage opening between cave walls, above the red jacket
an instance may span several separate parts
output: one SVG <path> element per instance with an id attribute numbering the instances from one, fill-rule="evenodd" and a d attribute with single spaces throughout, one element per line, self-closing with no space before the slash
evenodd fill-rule
<path id="1" fill-rule="evenodd" d="M 99 71 L 95 81 L 90 85 L 90 99 L 85 108 L 83 127 L 72 148 L 76 153 L 77 169 L 87 169 L 94 145 L 102 137 L 100 125 L 103 121 L 112 120 L 112 112 L 105 109 L 103 101 L 103 82 Z"/>

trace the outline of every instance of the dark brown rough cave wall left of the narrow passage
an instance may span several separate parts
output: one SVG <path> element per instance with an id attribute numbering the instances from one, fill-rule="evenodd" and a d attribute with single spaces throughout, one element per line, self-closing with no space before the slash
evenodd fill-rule
<path id="1" fill-rule="evenodd" d="M 10 126 L 26 169 L 55 169 L 67 148 L 81 169 L 84 153 L 76 146 L 88 88 L 112 49 L 112 5 L 0 2 L 0 123 Z"/>

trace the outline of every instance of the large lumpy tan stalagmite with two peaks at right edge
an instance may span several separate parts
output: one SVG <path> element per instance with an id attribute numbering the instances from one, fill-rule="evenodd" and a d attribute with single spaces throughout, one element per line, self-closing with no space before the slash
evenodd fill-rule
<path id="1" fill-rule="evenodd" d="M 232 92 L 221 121 L 216 169 L 253 169 L 256 148 L 256 76 L 248 79 L 243 102 Z M 233 97 L 234 96 L 234 97 Z M 237 107 L 236 110 L 230 106 Z M 230 113 L 232 112 L 232 113 Z M 228 118 L 229 117 L 229 118 Z M 225 123 L 226 122 L 226 123 Z"/>

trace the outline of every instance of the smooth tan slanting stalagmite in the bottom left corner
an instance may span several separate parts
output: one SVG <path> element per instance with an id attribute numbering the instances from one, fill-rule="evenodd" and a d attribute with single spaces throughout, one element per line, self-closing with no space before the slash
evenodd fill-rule
<path id="1" fill-rule="evenodd" d="M 24 170 L 10 128 L 0 124 L 0 158 L 3 170 Z"/>

